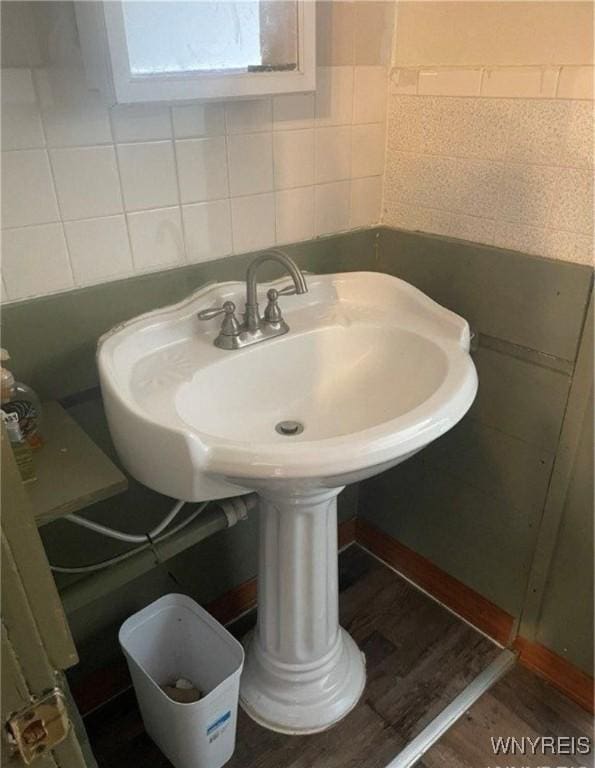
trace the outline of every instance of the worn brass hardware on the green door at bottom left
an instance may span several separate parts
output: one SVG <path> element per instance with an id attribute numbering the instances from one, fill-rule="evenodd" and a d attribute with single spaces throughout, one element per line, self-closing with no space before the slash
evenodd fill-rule
<path id="1" fill-rule="evenodd" d="M 64 741 L 70 728 L 64 694 L 59 688 L 35 699 L 28 707 L 12 715 L 6 723 L 14 754 L 25 765 L 47 754 Z"/>

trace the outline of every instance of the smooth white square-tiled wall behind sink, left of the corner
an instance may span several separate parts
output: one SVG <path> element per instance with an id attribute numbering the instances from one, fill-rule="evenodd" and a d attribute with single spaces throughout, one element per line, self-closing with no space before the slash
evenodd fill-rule
<path id="1" fill-rule="evenodd" d="M 71 64 L 2 80 L 5 300 L 380 220 L 385 67 L 320 67 L 316 93 L 173 107 L 107 109 Z"/>

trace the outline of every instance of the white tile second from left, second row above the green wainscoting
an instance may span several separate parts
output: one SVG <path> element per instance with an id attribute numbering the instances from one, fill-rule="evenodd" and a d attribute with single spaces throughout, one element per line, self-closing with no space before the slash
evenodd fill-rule
<path id="1" fill-rule="evenodd" d="M 90 219 L 122 211 L 113 147 L 50 150 L 62 218 Z"/>

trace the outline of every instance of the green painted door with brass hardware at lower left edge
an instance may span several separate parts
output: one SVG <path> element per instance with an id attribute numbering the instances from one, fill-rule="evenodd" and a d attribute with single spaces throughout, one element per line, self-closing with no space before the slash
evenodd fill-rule
<path id="1" fill-rule="evenodd" d="M 2 429 L 2 768 L 96 768 L 63 670 L 78 656 Z"/>

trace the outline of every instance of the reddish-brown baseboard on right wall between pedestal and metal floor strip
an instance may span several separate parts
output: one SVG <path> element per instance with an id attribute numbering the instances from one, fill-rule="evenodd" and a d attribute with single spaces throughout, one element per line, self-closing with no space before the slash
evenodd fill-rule
<path id="1" fill-rule="evenodd" d="M 365 520 L 357 520 L 355 539 L 500 645 L 510 643 L 513 617 L 487 598 Z"/>

